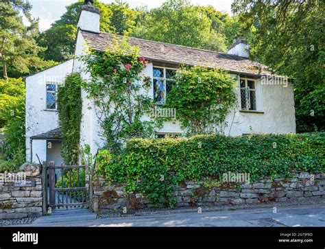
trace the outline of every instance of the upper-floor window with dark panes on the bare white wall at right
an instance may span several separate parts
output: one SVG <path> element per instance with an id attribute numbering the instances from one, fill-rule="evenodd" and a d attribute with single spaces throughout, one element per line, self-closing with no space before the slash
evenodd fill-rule
<path id="1" fill-rule="evenodd" d="M 241 78 L 241 110 L 256 110 L 255 80 Z"/>

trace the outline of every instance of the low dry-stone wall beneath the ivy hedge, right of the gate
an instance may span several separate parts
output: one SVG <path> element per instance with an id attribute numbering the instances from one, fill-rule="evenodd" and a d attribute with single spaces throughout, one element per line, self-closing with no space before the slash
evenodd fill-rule
<path id="1" fill-rule="evenodd" d="M 137 193 L 123 193 L 123 185 L 110 183 L 102 177 L 95 180 L 93 209 L 97 213 L 153 207 Z M 216 206 L 218 204 L 247 204 L 313 200 L 325 198 L 325 175 L 298 172 L 292 179 L 265 178 L 250 184 L 223 182 L 218 187 L 209 183 L 179 182 L 175 191 L 176 206 Z"/>

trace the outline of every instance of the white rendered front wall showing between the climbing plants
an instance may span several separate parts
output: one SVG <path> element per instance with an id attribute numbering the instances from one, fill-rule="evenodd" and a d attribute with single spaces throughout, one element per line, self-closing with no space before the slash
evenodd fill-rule
<path id="1" fill-rule="evenodd" d="M 80 33 L 77 38 L 76 54 L 83 54 L 85 51 L 84 38 Z M 141 74 L 153 78 L 154 64 L 149 63 Z M 84 79 L 88 79 L 90 75 L 82 73 L 84 64 L 75 61 L 74 71 L 81 72 Z M 232 74 L 232 77 L 238 79 L 237 101 L 238 106 L 241 105 L 240 91 L 239 91 L 239 75 Z M 247 77 L 249 78 L 249 77 Z M 154 88 L 149 90 L 149 96 L 153 97 Z M 103 139 L 100 137 L 102 133 L 100 128 L 100 121 L 95 113 L 93 103 L 86 98 L 86 93 L 82 91 L 83 96 L 83 118 L 81 129 L 81 143 L 91 145 L 91 152 L 95 154 L 97 148 L 104 145 Z M 88 109 L 91 107 L 91 110 Z M 224 134 L 237 136 L 241 134 L 254 133 L 278 133 L 285 134 L 288 132 L 296 132 L 295 109 L 293 102 L 293 88 L 291 84 L 287 87 L 283 85 L 262 85 L 260 80 L 256 81 L 256 108 L 257 112 L 241 112 L 239 108 L 229 113 L 226 117 L 226 126 Z M 177 110 L 176 110 L 177 115 Z M 148 120 L 145 116 L 142 120 Z M 231 129 L 230 129 L 231 126 Z M 178 121 L 167 122 L 160 133 L 182 133 L 180 123 Z"/>

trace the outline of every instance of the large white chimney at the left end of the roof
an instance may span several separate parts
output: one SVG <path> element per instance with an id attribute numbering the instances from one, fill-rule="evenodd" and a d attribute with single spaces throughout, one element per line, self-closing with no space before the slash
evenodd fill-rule
<path id="1" fill-rule="evenodd" d="M 93 7 L 93 1 L 84 1 L 77 27 L 89 32 L 99 33 L 99 10 Z"/>

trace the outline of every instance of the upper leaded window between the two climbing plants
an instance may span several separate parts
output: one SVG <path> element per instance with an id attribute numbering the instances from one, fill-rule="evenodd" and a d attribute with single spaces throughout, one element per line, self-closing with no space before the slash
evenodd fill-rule
<path id="1" fill-rule="evenodd" d="M 176 69 L 154 67 L 154 102 L 165 104 L 166 95 L 175 84 Z"/>

